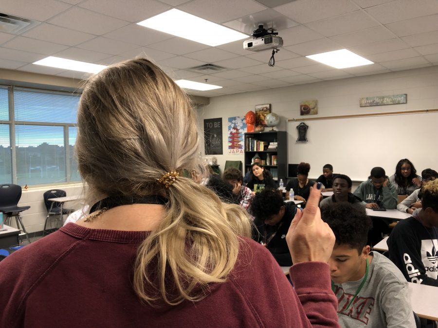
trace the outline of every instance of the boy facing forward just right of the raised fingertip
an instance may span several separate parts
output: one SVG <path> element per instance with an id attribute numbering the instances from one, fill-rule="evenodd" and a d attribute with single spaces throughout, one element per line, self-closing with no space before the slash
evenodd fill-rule
<path id="1" fill-rule="evenodd" d="M 352 207 L 365 212 L 365 204 L 362 202 L 362 199 L 351 193 L 352 185 L 353 182 L 347 175 L 336 174 L 333 179 L 333 195 L 323 199 L 321 203 L 319 203 L 319 207 L 322 209 L 333 203 L 347 202 L 350 203 Z"/>

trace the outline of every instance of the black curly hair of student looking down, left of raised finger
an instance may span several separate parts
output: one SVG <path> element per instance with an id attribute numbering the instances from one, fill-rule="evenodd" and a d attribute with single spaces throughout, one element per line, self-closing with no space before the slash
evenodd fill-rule
<path id="1" fill-rule="evenodd" d="M 283 205 L 283 197 L 276 190 L 265 188 L 252 198 L 250 213 L 256 219 L 265 220 L 278 214 Z"/>

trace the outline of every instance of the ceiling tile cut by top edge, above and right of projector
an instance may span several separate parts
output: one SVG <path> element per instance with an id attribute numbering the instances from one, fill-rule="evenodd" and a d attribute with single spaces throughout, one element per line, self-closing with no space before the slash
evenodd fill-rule
<path id="1" fill-rule="evenodd" d="M 324 2 L 324 3 L 323 3 Z M 274 8 L 283 15 L 305 24 L 358 10 L 349 0 L 297 0 Z"/>

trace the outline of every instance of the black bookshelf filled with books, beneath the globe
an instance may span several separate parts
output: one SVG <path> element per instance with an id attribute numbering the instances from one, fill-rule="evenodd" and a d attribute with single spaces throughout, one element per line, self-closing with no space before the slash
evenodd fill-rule
<path id="1" fill-rule="evenodd" d="M 275 181 L 286 184 L 288 147 L 286 131 L 245 133 L 245 173 L 251 169 L 253 157 L 258 154 Z"/>

